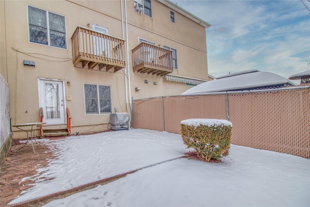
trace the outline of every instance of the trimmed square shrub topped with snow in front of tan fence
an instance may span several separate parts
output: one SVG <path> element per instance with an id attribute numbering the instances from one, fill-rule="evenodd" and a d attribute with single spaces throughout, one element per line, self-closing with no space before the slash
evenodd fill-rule
<path id="1" fill-rule="evenodd" d="M 232 127 L 223 119 L 186 119 L 181 122 L 182 139 L 201 159 L 220 160 L 229 153 Z"/>

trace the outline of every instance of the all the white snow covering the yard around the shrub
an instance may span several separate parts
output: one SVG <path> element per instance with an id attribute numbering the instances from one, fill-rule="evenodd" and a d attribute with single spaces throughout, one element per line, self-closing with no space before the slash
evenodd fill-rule
<path id="1" fill-rule="evenodd" d="M 46 207 L 294 206 L 309 207 L 310 160 L 231 146 L 222 163 L 185 158 L 181 135 L 145 129 L 47 142 L 61 149 L 38 183 L 12 203 L 41 197 L 145 166 L 104 186 Z M 171 160 L 174 159 L 174 160 Z M 154 165 L 161 161 L 167 161 Z"/>

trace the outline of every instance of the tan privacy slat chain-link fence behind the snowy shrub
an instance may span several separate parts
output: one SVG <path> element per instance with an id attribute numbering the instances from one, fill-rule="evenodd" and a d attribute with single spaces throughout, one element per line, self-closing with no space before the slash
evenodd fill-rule
<path id="1" fill-rule="evenodd" d="M 133 127 L 180 134 L 190 118 L 227 119 L 232 143 L 310 159 L 310 87 L 134 100 Z"/>

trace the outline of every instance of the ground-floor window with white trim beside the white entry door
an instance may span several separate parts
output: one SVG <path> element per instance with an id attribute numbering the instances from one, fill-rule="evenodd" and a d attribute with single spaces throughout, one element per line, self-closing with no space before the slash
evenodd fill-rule
<path id="1" fill-rule="evenodd" d="M 104 114 L 112 112 L 111 86 L 84 84 L 86 114 Z"/>

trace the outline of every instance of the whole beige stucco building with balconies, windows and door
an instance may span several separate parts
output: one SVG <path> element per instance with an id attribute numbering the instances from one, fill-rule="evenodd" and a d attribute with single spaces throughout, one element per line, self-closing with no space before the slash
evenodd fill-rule
<path id="1" fill-rule="evenodd" d="M 180 95 L 208 76 L 210 25 L 169 0 L 1 0 L 0 74 L 11 125 L 109 128 L 132 99 Z M 25 138 L 12 127 L 13 137 Z"/>

